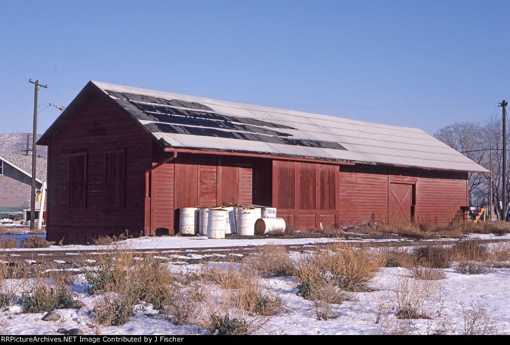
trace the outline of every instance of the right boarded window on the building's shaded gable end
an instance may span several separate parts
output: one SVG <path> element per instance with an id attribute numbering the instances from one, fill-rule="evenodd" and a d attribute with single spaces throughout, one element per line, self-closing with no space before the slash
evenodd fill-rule
<path id="1" fill-rule="evenodd" d="M 125 163 L 124 151 L 105 154 L 105 207 L 124 208 Z"/>

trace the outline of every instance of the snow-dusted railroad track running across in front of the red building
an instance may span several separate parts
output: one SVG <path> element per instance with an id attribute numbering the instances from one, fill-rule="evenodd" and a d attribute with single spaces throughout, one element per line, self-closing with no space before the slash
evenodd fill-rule
<path id="1" fill-rule="evenodd" d="M 334 239 L 331 238 L 333 241 Z M 401 246 L 424 246 L 424 245 L 448 245 L 458 240 L 441 240 L 441 241 L 420 241 L 420 240 L 400 240 L 391 242 L 344 242 L 353 246 L 368 246 L 373 248 L 381 247 L 401 247 Z M 484 242 L 503 242 L 507 240 L 484 240 Z M 285 245 L 286 249 L 291 252 L 314 252 L 325 249 L 327 243 L 310 243 L 301 245 Z M 7 250 L 0 251 L 0 260 L 5 263 L 19 263 L 25 260 L 30 262 L 49 262 L 49 261 L 67 261 L 67 260 L 83 260 L 93 259 L 99 255 L 105 255 L 110 252 L 132 252 L 135 256 L 157 256 L 168 259 L 198 259 L 203 256 L 227 256 L 227 255 L 248 255 L 253 253 L 258 246 L 236 246 L 236 247 L 200 247 L 200 248 L 158 248 L 158 249 L 58 249 L 58 250 Z"/>

